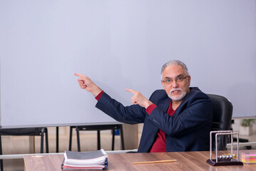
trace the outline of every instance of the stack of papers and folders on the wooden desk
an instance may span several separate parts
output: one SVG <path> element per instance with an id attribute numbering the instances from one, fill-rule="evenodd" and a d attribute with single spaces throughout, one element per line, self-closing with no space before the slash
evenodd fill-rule
<path id="1" fill-rule="evenodd" d="M 104 170 L 108 167 L 105 150 L 91 152 L 65 151 L 62 170 Z"/>

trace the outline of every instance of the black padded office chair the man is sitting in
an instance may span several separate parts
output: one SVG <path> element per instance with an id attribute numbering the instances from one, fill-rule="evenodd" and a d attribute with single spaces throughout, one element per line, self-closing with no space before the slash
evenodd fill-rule
<path id="1" fill-rule="evenodd" d="M 211 130 L 230 130 L 233 111 L 232 103 L 221 95 L 208 94 L 208 96 L 213 104 L 213 125 Z M 212 147 L 215 150 L 215 134 L 213 134 L 212 138 Z M 219 136 L 217 140 L 219 149 L 217 150 L 226 150 L 227 142 L 230 142 L 230 136 Z"/>

